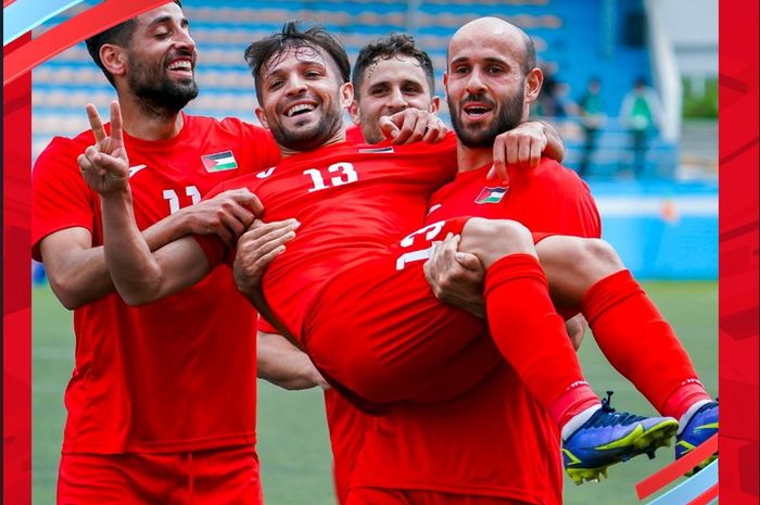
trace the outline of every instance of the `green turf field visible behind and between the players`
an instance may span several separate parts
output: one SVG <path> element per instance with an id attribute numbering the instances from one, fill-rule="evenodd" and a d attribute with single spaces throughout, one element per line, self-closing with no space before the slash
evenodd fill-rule
<path id="1" fill-rule="evenodd" d="M 715 282 L 647 282 L 645 288 L 681 336 L 712 394 L 718 392 L 718 287 Z M 63 390 L 72 371 L 71 314 L 49 288 L 33 292 L 33 492 L 35 505 L 54 503 L 63 431 Z M 610 368 L 590 336 L 581 363 L 592 386 L 616 391 L 612 405 L 654 414 Z M 261 382 L 258 439 L 267 505 L 333 504 L 330 454 L 318 391 L 286 392 Z M 612 467 L 609 480 L 575 487 L 566 479 L 567 505 L 633 505 L 634 484 L 672 459 L 672 450 Z"/>

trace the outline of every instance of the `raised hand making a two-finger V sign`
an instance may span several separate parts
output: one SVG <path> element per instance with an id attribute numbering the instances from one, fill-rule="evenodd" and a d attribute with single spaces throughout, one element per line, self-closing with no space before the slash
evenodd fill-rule
<path id="1" fill-rule="evenodd" d="M 111 135 L 91 103 L 85 108 L 96 143 L 79 154 L 77 163 L 87 185 L 100 194 L 126 191 L 129 188 L 129 160 L 124 148 L 122 111 L 117 101 L 111 102 Z"/>

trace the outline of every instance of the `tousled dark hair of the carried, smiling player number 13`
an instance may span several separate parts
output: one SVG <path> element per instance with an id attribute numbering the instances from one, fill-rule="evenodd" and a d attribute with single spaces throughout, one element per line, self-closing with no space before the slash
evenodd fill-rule
<path id="1" fill-rule="evenodd" d="M 253 75 L 258 103 L 262 102 L 262 67 L 270 59 L 282 56 L 289 49 L 312 48 L 314 50 L 322 50 L 332 59 L 343 79 L 342 81 L 349 81 L 351 63 L 341 41 L 330 35 L 322 26 L 315 25 L 303 30 L 301 28 L 302 24 L 303 22 L 301 21 L 289 21 L 282 25 L 280 33 L 252 42 L 245 49 L 245 61 Z"/>

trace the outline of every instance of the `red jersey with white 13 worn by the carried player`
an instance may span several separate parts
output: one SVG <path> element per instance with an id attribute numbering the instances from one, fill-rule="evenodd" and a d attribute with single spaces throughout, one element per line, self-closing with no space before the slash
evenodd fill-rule
<path id="1" fill-rule="evenodd" d="M 246 187 L 264 204 L 265 220 L 301 223 L 263 280 L 275 315 L 301 340 L 306 311 L 326 282 L 418 228 L 428 197 L 452 179 L 455 165 L 453 138 L 384 148 L 342 142 L 289 156 L 215 192 Z M 221 242 L 199 239 L 212 265 L 218 263 Z"/>

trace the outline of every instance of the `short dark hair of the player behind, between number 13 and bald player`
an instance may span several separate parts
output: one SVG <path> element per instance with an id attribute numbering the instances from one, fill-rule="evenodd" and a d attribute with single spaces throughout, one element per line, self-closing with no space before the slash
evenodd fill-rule
<path id="1" fill-rule="evenodd" d="M 367 43 L 359 50 L 354 63 L 352 84 L 354 85 L 354 97 L 359 98 L 359 86 L 364 81 L 364 72 L 369 65 L 378 60 L 390 60 L 395 56 L 409 56 L 417 60 L 425 71 L 425 76 L 430 85 L 430 96 L 435 92 L 435 75 L 433 73 L 433 62 L 427 52 L 415 45 L 415 38 L 406 34 L 391 34 L 380 37 Z"/>

